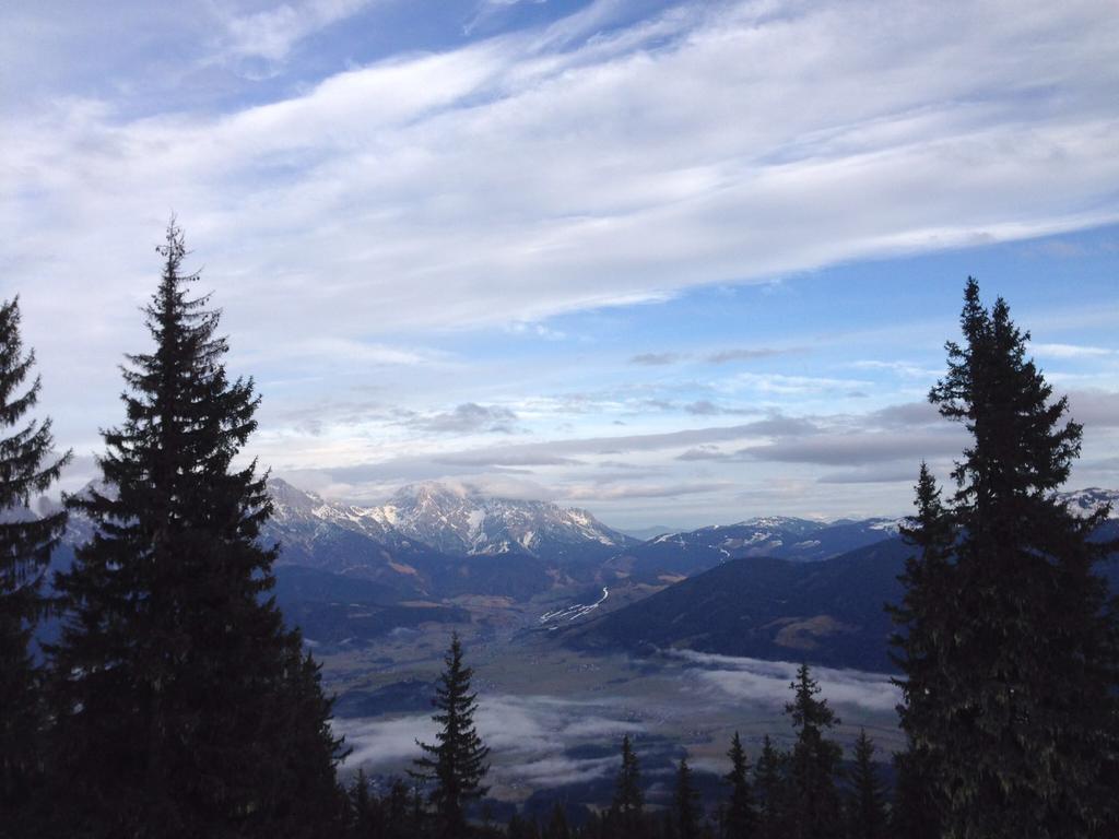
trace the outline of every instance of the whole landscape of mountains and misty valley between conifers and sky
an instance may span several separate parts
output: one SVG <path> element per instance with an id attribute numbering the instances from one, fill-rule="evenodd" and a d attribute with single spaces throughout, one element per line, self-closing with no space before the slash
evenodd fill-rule
<path id="1" fill-rule="evenodd" d="M 337 696 L 346 771 L 384 781 L 410 767 L 452 632 L 474 669 L 496 805 L 601 803 L 623 734 L 653 776 L 686 752 L 714 790 L 735 730 L 751 754 L 763 735 L 791 736 L 801 661 L 843 720 L 839 742 L 865 727 L 884 753 L 902 746 L 882 607 L 910 552 L 895 520 L 770 517 L 641 543 L 582 511 L 431 484 L 373 512 L 279 492 L 278 596 Z M 1066 500 L 1087 512 L 1117 496 Z"/>

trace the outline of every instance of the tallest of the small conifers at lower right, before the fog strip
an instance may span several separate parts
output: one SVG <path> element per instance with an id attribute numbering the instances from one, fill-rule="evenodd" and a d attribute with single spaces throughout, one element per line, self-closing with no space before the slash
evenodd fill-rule
<path id="1" fill-rule="evenodd" d="M 836 775 L 843 750 L 825 733 L 839 720 L 826 699 L 816 698 L 820 687 L 808 664 L 797 669 L 797 679 L 789 687 L 793 690 L 793 700 L 784 710 L 797 730 L 789 761 L 792 835 L 798 839 L 835 837 L 841 828 Z"/>

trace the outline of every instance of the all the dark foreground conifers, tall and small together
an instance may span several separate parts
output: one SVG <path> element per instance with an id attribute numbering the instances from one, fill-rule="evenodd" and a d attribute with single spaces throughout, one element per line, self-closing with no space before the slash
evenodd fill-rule
<path id="1" fill-rule="evenodd" d="M 674 805 L 647 809 L 629 739 L 611 807 L 498 829 L 476 812 L 488 750 L 458 639 L 433 744 L 412 783 L 344 788 L 320 667 L 272 595 L 266 474 L 238 455 L 256 428 L 252 379 L 231 378 L 218 312 L 191 295 L 181 230 L 144 309 L 147 352 L 122 368 L 124 418 L 103 432 L 101 481 L 31 513 L 69 454 L 0 305 L 0 836 L 4 837 L 1084 837 L 1119 836 L 1119 607 L 1098 574 L 1119 545 L 1054 493 L 1082 428 L 1027 355 L 1002 299 L 968 281 L 963 342 L 930 393 L 970 436 L 950 493 L 922 464 L 904 596 L 888 604 L 906 748 L 887 807 L 865 733 L 854 765 L 807 666 L 789 752 L 740 738 L 726 795 L 705 808 L 686 758 Z M 68 513 L 92 524 L 51 568 Z M 35 654 L 45 619 L 60 632 Z M 711 804 L 713 802 L 708 802 Z"/>

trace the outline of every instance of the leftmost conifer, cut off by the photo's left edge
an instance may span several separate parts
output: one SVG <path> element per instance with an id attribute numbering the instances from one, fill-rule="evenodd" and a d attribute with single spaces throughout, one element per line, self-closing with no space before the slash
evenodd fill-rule
<path id="1" fill-rule="evenodd" d="M 47 611 L 44 576 L 66 527 L 65 511 L 38 517 L 30 505 L 70 456 L 50 456 L 49 420 L 23 420 L 39 398 L 39 379 L 26 384 L 34 366 L 19 333 L 19 300 L 0 304 L 0 824 L 9 826 L 25 810 L 40 763 L 41 673 L 31 637 Z"/>

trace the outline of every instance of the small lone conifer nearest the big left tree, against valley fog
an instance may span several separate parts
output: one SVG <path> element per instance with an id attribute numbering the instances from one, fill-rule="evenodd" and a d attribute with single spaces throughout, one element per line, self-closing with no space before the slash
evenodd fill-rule
<path id="1" fill-rule="evenodd" d="M 424 756 L 415 761 L 417 770 L 411 774 L 433 783 L 429 800 L 435 808 L 439 837 L 459 839 L 468 833 L 467 805 L 487 792 L 481 782 L 489 771 L 489 748 L 474 728 L 478 695 L 470 692 L 473 670 L 462 663 L 462 642 L 457 632 L 443 661 L 445 667 L 435 690 L 439 713 L 432 717 L 440 725 L 438 743 L 416 741 Z"/>

